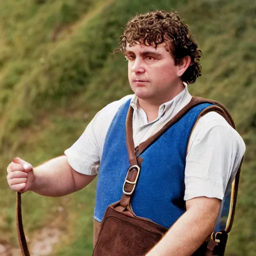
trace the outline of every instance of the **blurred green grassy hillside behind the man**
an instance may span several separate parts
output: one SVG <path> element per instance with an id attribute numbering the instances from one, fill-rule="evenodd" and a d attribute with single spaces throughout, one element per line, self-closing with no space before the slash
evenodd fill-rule
<path id="1" fill-rule="evenodd" d="M 256 1 L 0 1 L 0 255 L 20 255 L 15 192 L 6 167 L 63 154 L 107 103 L 130 94 L 127 63 L 112 53 L 136 13 L 177 10 L 199 48 L 191 94 L 220 101 L 246 144 L 227 256 L 256 255 Z M 32 255 L 91 255 L 95 182 L 68 196 L 22 195 Z"/>

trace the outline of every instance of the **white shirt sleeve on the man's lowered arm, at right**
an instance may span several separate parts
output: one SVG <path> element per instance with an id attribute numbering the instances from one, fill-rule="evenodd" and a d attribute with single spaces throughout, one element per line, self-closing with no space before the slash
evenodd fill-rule
<path id="1" fill-rule="evenodd" d="M 184 200 L 222 200 L 245 152 L 241 136 L 220 114 L 209 112 L 195 125 L 187 149 Z"/>

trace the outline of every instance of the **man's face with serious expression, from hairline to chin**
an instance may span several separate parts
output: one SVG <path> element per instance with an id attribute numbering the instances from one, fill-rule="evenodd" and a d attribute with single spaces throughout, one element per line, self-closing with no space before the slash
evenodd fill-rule
<path id="1" fill-rule="evenodd" d="M 161 104 L 175 95 L 180 68 L 174 64 L 165 42 L 147 46 L 143 43 L 126 45 L 125 57 L 128 60 L 130 87 L 139 99 Z"/>

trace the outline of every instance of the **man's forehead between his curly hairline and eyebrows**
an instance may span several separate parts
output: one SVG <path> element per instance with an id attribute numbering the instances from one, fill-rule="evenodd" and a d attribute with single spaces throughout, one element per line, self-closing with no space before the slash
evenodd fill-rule
<path id="1" fill-rule="evenodd" d="M 165 42 L 157 44 L 156 48 L 154 45 L 145 45 L 144 43 L 140 43 L 138 41 L 135 41 L 131 45 L 128 42 L 126 42 L 126 51 L 133 51 L 134 53 L 139 53 L 139 52 L 143 52 L 145 50 L 155 51 L 157 53 L 168 52 L 166 49 Z"/>

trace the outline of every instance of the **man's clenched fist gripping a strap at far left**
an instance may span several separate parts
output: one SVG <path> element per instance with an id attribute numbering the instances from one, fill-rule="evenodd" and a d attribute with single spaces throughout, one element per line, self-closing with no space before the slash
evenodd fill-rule
<path id="1" fill-rule="evenodd" d="M 34 180 L 33 166 L 16 157 L 7 167 L 7 182 L 14 191 L 25 192 Z"/>

